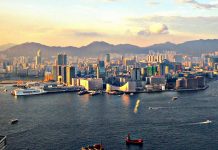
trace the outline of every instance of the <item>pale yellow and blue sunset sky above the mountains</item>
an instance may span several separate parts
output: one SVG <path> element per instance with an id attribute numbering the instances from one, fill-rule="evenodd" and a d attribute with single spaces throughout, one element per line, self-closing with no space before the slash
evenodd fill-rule
<path id="1" fill-rule="evenodd" d="M 148 46 L 218 38 L 218 0 L 0 0 L 0 45 Z"/>

